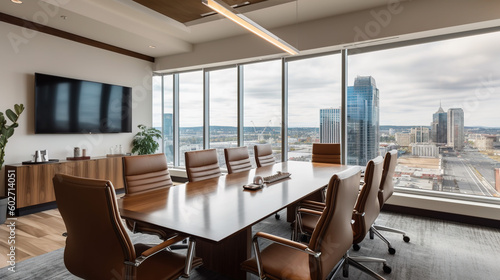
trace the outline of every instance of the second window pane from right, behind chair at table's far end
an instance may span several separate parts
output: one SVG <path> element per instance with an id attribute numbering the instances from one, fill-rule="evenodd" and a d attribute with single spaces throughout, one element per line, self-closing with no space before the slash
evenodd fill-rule
<path id="1" fill-rule="evenodd" d="M 310 161 L 312 143 L 340 143 L 340 54 L 288 62 L 288 159 Z"/>

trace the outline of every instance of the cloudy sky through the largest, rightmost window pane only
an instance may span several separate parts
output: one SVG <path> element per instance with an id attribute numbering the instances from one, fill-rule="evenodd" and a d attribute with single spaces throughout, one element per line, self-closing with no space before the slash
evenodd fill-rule
<path id="1" fill-rule="evenodd" d="M 500 127 L 500 33 L 350 56 L 350 82 L 371 75 L 380 123 L 429 125 L 439 108 L 462 108 L 466 126 Z"/>

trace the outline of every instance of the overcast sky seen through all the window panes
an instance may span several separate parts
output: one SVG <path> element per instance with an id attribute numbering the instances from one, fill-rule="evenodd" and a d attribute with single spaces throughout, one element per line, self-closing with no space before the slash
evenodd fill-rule
<path id="1" fill-rule="evenodd" d="M 351 55 L 349 85 L 375 78 L 381 125 L 429 125 L 441 103 L 462 108 L 466 126 L 500 127 L 498 46 L 499 32 Z M 288 64 L 290 127 L 319 127 L 319 110 L 339 107 L 340 69 L 338 54 Z M 245 126 L 281 124 L 280 75 L 280 61 L 245 65 Z M 235 68 L 211 72 L 211 125 L 236 126 L 236 80 Z M 201 71 L 180 82 L 181 126 L 201 126 Z"/>

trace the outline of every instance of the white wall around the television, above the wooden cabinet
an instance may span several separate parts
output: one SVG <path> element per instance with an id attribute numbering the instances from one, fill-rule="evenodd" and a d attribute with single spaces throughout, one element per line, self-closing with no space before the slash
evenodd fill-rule
<path id="1" fill-rule="evenodd" d="M 7 144 L 5 164 L 30 160 L 40 149 L 47 149 L 50 158 L 56 159 L 72 156 L 76 146 L 86 148 L 91 156 L 105 156 L 114 145 L 130 152 L 137 125 L 151 126 L 152 63 L 3 22 L 0 37 L 0 111 L 5 113 L 16 103 L 26 107 Z M 132 87 L 132 133 L 34 134 L 35 72 Z M 4 169 L 0 174 L 1 195 Z"/>

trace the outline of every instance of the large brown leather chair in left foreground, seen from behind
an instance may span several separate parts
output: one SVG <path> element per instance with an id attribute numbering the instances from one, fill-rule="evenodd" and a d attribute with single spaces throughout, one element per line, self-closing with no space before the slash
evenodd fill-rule
<path id="1" fill-rule="evenodd" d="M 165 250 L 186 237 L 154 247 L 132 244 L 121 222 L 113 184 L 57 174 L 56 202 L 67 230 L 64 264 L 83 279 L 176 279 L 202 264 L 193 256 Z"/>

